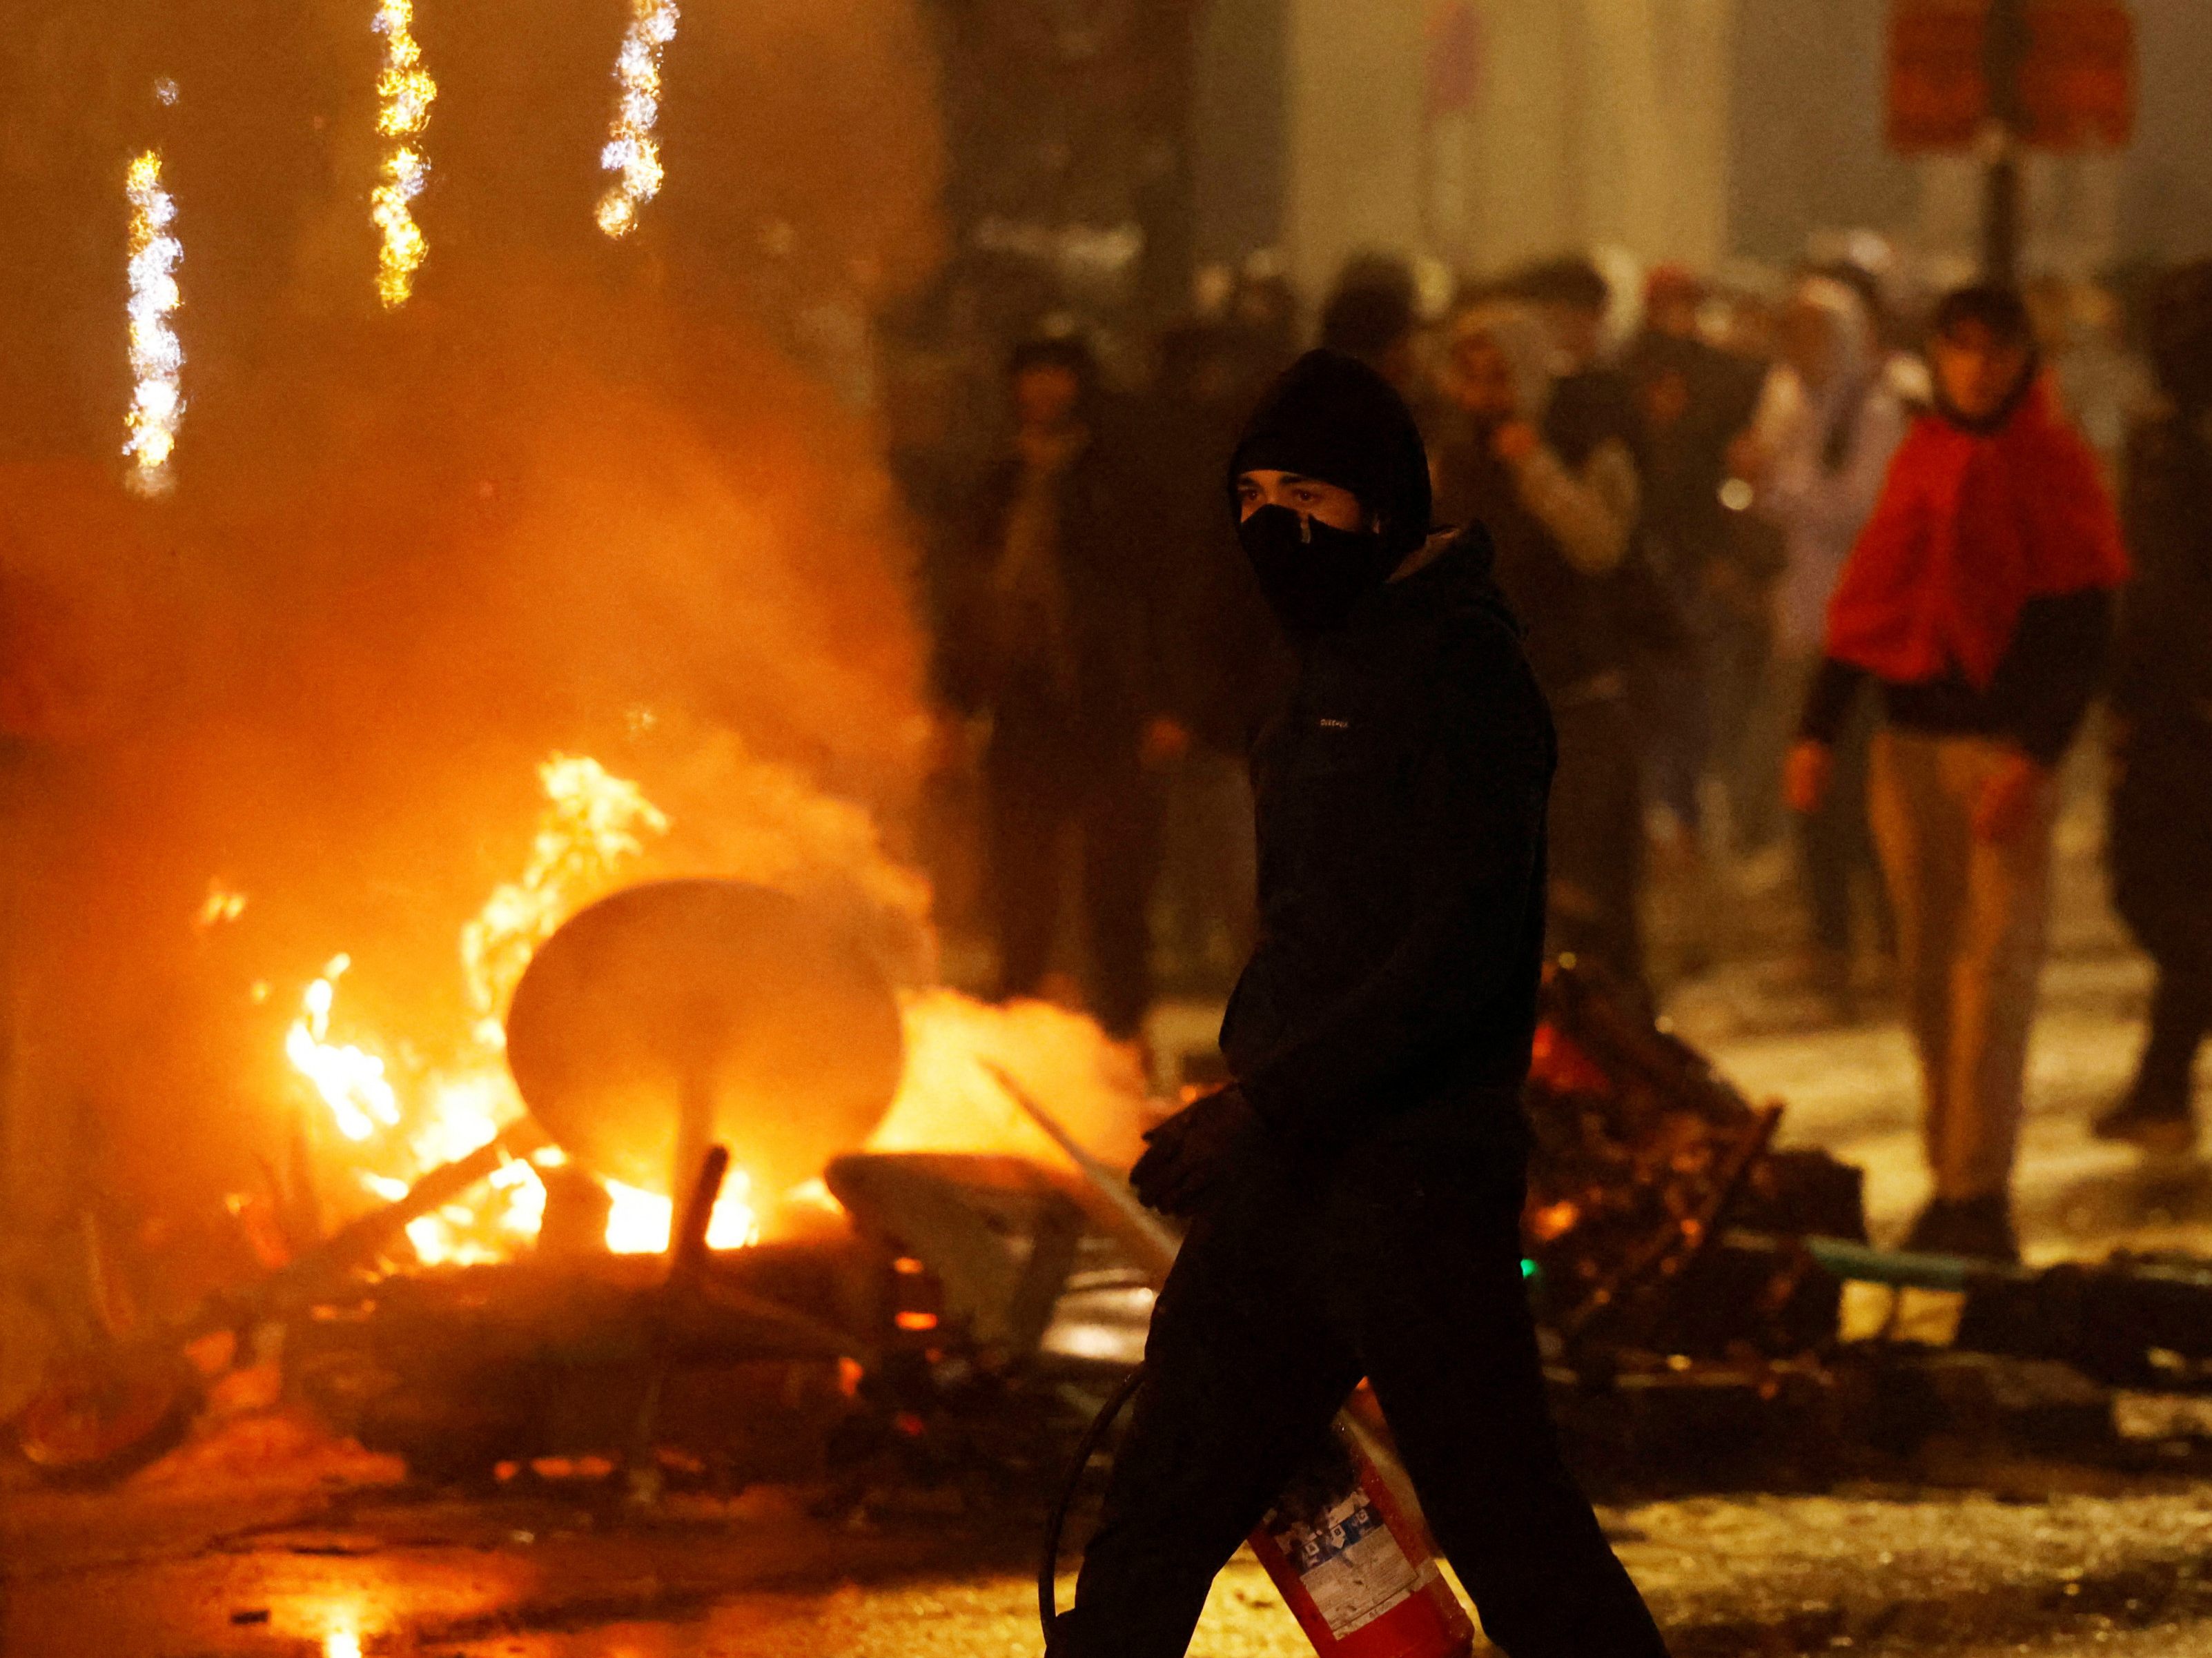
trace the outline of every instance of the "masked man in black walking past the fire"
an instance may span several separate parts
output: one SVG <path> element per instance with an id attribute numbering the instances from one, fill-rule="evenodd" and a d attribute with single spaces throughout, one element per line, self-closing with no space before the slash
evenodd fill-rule
<path id="1" fill-rule="evenodd" d="M 1190 1234 L 1051 1651 L 1177 1658 L 1367 1377 L 1491 1640 L 1663 1654 L 1559 1459 L 1522 1287 L 1553 736 L 1489 537 L 1429 535 L 1405 402 L 1334 351 L 1265 396 L 1230 489 L 1301 659 L 1254 754 L 1261 940 L 1237 1081 L 1130 1176 Z"/>

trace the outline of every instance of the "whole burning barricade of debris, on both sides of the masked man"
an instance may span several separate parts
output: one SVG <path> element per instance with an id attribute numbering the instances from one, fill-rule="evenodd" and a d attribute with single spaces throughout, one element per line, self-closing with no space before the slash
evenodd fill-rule
<path id="1" fill-rule="evenodd" d="M 482 1039 L 500 1068 L 427 1094 L 467 1143 L 425 1136 L 376 1057 L 334 1043 L 325 975 L 294 1063 L 341 1134 L 429 1167 L 372 1174 L 378 1207 L 64 1366 L 15 1421 L 46 1475 L 104 1479 L 175 1444 L 204 1382 L 186 1353 L 215 1335 L 265 1351 L 257 1331 L 281 1326 L 288 1393 L 425 1479 L 1042 1492 L 1139 1362 L 1157 1262 L 1082 1134 L 1071 1156 L 1022 1123 L 1022 1105 L 1051 1123 L 1064 1079 L 1018 1079 L 1018 1052 L 989 1048 L 1009 1019 L 1060 1021 L 1044 1046 L 1088 1028 L 949 993 L 902 1006 L 849 931 L 757 884 L 622 886 L 551 926 L 650 825 L 641 796 L 557 809 L 595 825 L 599 862 L 542 838 L 473 935 L 487 984 L 502 955 L 518 966 L 484 1001 L 507 1010 Z M 566 902 L 529 900 L 553 889 Z M 1104 1054 L 1091 1085 L 1135 1123 Z M 998 1127 L 969 1099 L 945 1136 L 978 1150 L 916 1150 L 916 1114 L 962 1094 L 989 1096 Z M 456 1127 L 451 1101 L 482 1114 Z M 1856 1169 L 1776 1150 L 1778 1105 L 1571 962 L 1546 975 L 1528 1112 L 1524 1269 L 1593 1470 L 1818 1479 L 1986 1428 L 2000 1395 L 2042 1424 L 2039 1448 L 2110 1457 L 2112 1388 L 2203 1386 L 2212 1269 L 1876 1251 Z M 1953 1295 L 1955 1340 L 1843 1342 L 1845 1280 Z"/>

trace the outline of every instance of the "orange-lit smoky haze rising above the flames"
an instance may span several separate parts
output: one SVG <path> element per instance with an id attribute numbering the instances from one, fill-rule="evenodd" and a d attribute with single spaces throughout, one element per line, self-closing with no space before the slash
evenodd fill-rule
<path id="1" fill-rule="evenodd" d="M 628 9 L 427 0 L 429 259 L 389 316 L 372 0 L 7 11 L 9 1132 L 46 1176 L 13 1200 L 250 1183 L 299 1110 L 283 1030 L 336 951 L 343 1021 L 436 1061 L 467 1026 L 456 933 L 524 864 L 551 752 L 668 814 L 641 873 L 790 858 L 745 818 L 779 789 L 896 833 L 922 646 L 838 387 L 936 256 L 909 0 L 690 7 L 666 188 L 619 245 L 591 210 Z M 155 502 L 115 453 L 146 146 L 188 358 Z M 825 833 L 858 862 L 865 820 Z M 210 882 L 237 920 L 197 924 Z"/>

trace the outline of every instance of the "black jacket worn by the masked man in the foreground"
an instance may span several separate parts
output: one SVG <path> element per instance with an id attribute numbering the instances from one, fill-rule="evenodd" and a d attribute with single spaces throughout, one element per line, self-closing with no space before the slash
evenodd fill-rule
<path id="1" fill-rule="evenodd" d="M 1261 940 L 1221 1050 L 1303 1143 L 1495 1112 L 1528 1072 L 1555 749 L 1489 564 L 1471 528 L 1369 595 L 1254 749 Z"/>

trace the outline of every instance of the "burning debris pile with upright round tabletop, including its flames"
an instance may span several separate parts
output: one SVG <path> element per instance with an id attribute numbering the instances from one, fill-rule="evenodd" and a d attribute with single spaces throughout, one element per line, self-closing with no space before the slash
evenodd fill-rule
<path id="1" fill-rule="evenodd" d="M 551 760 L 544 785 L 526 875 L 462 928 L 476 1063 L 411 1074 L 374 1039 L 338 1041 L 341 966 L 316 979 L 288 1054 L 327 1112 L 312 1163 L 336 1158 L 365 1207 L 327 1238 L 263 1238 L 261 1278 L 113 1329 L 60 1366 L 13 1424 L 33 1463 L 62 1479 L 137 1466 L 188 1424 L 201 1371 L 265 1353 L 276 1333 L 290 1395 L 453 1477 L 582 1450 L 653 1463 L 668 1382 L 670 1421 L 739 1433 L 752 1479 L 765 1446 L 821 1441 L 776 1426 L 794 1402 L 810 1402 L 796 1426 L 814 1430 L 852 1415 L 863 1379 L 878 1404 L 887 1386 L 916 1404 L 918 1377 L 947 1360 L 940 1307 L 958 1313 L 967 1357 L 978 1342 L 1011 1342 L 1018 1360 L 1040 1349 L 1084 1253 L 1053 1174 L 978 1152 L 852 1154 L 878 1123 L 907 1145 L 1022 1143 L 1000 1066 L 1073 1072 L 1082 1081 L 1053 1092 L 1126 1147 L 1137 1094 L 1097 1028 L 949 990 L 900 1004 L 860 935 L 770 886 L 661 880 L 595 898 L 666 820 L 588 760 Z M 699 1167 L 712 1176 L 670 1240 L 677 1169 Z M 1013 1209 L 978 1220 L 993 1183 Z M 1064 1249 L 1035 1245 L 1046 1214 Z M 929 1267 L 907 1238 L 940 1245 Z M 1002 1304 L 1009 1238 L 1026 1245 L 1020 1315 Z M 666 1269 L 635 1260 L 661 1251 Z M 1124 1300 L 1108 1295 L 1108 1342 L 1126 1364 L 1146 1307 Z M 661 1377 L 646 1406 L 639 1368 Z M 730 1399 L 765 1415 L 732 1417 Z M 606 1439 L 633 1408 L 646 1426 Z"/>

